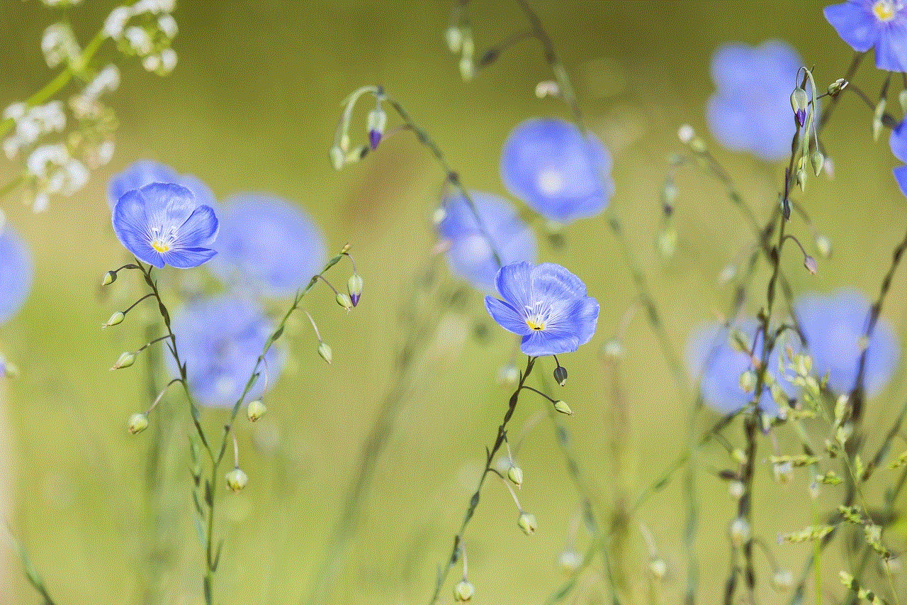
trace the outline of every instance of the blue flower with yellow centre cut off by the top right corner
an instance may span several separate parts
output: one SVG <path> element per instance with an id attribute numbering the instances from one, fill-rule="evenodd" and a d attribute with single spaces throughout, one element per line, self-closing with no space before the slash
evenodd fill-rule
<path id="1" fill-rule="evenodd" d="M 903 0 L 850 0 L 824 8 L 825 19 L 858 53 L 875 47 L 875 66 L 907 72 L 907 5 Z"/>

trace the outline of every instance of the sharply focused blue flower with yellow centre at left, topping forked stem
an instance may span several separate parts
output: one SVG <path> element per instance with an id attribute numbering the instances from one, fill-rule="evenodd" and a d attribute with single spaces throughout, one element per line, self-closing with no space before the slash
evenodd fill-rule
<path id="1" fill-rule="evenodd" d="M 112 222 L 120 243 L 155 267 L 197 267 L 216 254 L 211 247 L 218 217 L 177 184 L 151 183 L 123 193 Z"/>

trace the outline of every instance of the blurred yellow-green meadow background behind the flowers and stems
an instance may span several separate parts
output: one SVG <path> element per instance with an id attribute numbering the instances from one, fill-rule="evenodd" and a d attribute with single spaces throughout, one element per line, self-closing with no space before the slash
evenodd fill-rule
<path id="1" fill-rule="evenodd" d="M 65 13 L 37 2 L 0 3 L 0 104 L 21 100 L 55 72 L 44 64 L 44 27 L 65 15 L 79 39 L 89 39 L 115 4 L 89 2 Z M 654 242 L 661 221 L 659 188 L 668 155 L 678 150 L 680 124 L 692 124 L 740 189 L 766 217 L 776 203 L 783 166 L 720 149 L 707 132 L 704 107 L 714 90 L 709 57 L 729 41 L 758 44 L 780 38 L 815 65 L 820 85 L 844 75 L 852 51 L 824 21 L 822 4 L 797 3 L 534 3 L 570 71 L 590 129 L 614 157 L 612 204 L 629 243 L 649 276 L 668 334 L 682 351 L 688 334 L 728 308 L 733 288 L 717 283 L 722 268 L 752 244 L 746 223 L 717 183 L 690 170 L 678 176 L 678 251 L 664 260 Z M 110 97 L 121 127 L 111 164 L 70 199 L 33 214 L 21 192 L 2 200 L 7 220 L 24 233 L 34 253 L 31 298 L 0 326 L 0 350 L 22 375 L 0 383 L 5 427 L 0 434 L 2 475 L 10 533 L 2 544 L 4 603 L 35 602 L 15 558 L 13 538 L 29 552 L 58 603 L 198 603 L 203 551 L 191 518 L 189 415 L 179 396 L 161 404 L 152 427 L 125 431 L 132 412 L 145 409 L 150 386 L 144 363 L 107 372 L 120 352 L 147 340 L 141 322 L 101 332 L 110 314 L 140 293 L 132 275 L 102 292 L 102 274 L 128 258 L 116 241 L 105 202 L 108 178 L 150 158 L 194 174 L 219 198 L 260 191 L 304 206 L 326 234 L 330 250 L 352 243 L 365 293 L 347 315 L 327 290 L 316 289 L 304 307 L 334 349 L 327 366 L 306 322 L 285 336 L 288 371 L 268 397 L 268 416 L 238 424 L 242 466 L 249 486 L 221 493 L 217 534 L 225 540 L 216 602 L 299 603 L 307 600 L 326 544 L 360 467 L 366 437 L 389 389 L 395 387 L 395 352 L 405 340 L 401 309 L 414 296 L 414 278 L 431 257 L 432 211 L 444 174 L 431 156 L 400 134 L 361 164 L 336 172 L 327 158 L 341 100 L 362 84 L 383 84 L 414 120 L 434 136 L 468 187 L 504 194 L 498 172 L 502 142 L 532 116 L 569 117 L 562 104 L 533 94 L 551 73 L 532 42 L 523 42 L 464 83 L 444 44 L 451 4 L 390 2 L 181 2 L 176 70 L 159 78 L 137 60 L 117 58 L 122 85 Z M 478 49 L 525 27 L 513 3 L 476 2 Z M 871 61 L 854 81 L 876 94 L 882 80 Z M 900 110 L 893 108 L 892 112 Z M 788 248 L 783 267 L 795 292 L 831 292 L 852 285 L 874 296 L 890 253 L 905 229 L 904 198 L 893 183 L 895 160 L 884 139 L 873 144 L 872 115 L 846 97 L 824 133 L 836 177 L 811 179 L 805 208 L 834 243 L 809 275 Z M 394 124 L 393 118 L 391 124 Z M 355 135 L 365 135 L 365 112 Z M 364 140 L 364 139 L 363 139 Z M 0 163 L 3 182 L 17 166 Z M 793 232 L 812 240 L 805 224 Z M 571 379 L 561 389 L 575 412 L 566 422 L 583 475 L 601 511 L 625 494 L 632 500 L 685 447 L 690 392 L 678 392 L 643 314 L 619 246 L 603 219 L 567 228 L 564 245 L 544 238 L 540 257 L 580 275 L 601 303 L 598 333 L 580 352 L 564 356 Z M 288 251 L 289 254 L 294 251 Z M 346 271 L 335 273 L 345 283 Z M 336 271 L 336 270 L 335 270 Z M 203 270 L 168 273 L 171 292 L 208 287 Z M 756 274 L 746 303 L 756 312 L 767 274 Z M 399 409 L 375 461 L 355 533 L 338 559 L 324 602 L 425 602 L 437 566 L 448 556 L 474 482 L 483 447 L 493 441 L 508 392 L 495 384 L 512 359 L 509 334 L 483 310 L 481 297 L 457 286 L 441 265 L 438 292 L 454 302 L 434 312 L 434 328 L 420 342 Z M 200 286 L 198 284 L 201 284 Z M 434 292 L 434 291 L 433 291 Z M 905 281 L 895 279 L 884 316 L 905 333 Z M 429 298 L 428 303 L 435 299 Z M 440 299 L 438 299 L 440 300 Z M 174 299 L 174 306 L 179 303 Z M 302 318 L 304 320 L 304 317 Z M 615 334 L 626 357 L 615 366 L 601 347 Z M 544 373 L 553 369 L 545 362 Z M 873 402 L 870 440 L 901 407 L 902 371 Z M 617 401 L 622 402 L 618 405 Z M 513 422 L 518 430 L 544 410 L 526 396 Z M 203 420 L 211 431 L 220 410 Z M 704 429 L 717 416 L 704 412 Z M 515 431 L 514 431 L 515 434 Z M 739 429 L 728 431 L 739 440 Z M 820 434 L 817 431 L 817 434 Z M 781 432 L 782 450 L 795 440 Z M 622 441 L 621 441 L 622 440 Z M 613 444 L 622 443 L 619 464 Z M 763 439 L 762 452 L 772 449 Z M 767 455 L 767 454 L 766 454 Z M 539 520 L 527 537 L 497 481 L 489 481 L 467 531 L 470 578 L 480 602 L 542 602 L 564 577 L 554 561 L 569 541 L 579 504 L 547 415 L 528 431 L 519 453 L 525 474 L 523 507 Z M 701 521 L 695 548 L 701 560 L 702 602 L 720 599 L 729 566 L 727 523 L 736 503 L 714 471 L 729 466 L 727 452 L 710 445 L 700 458 L 697 494 Z M 649 549 L 644 523 L 668 561 L 656 599 L 678 602 L 684 586 L 681 475 L 630 521 L 625 550 L 629 584 L 648 594 Z M 881 480 L 880 480 L 881 483 Z M 869 486 L 881 492 L 880 484 Z M 834 494 L 833 494 L 834 495 Z M 787 486 L 759 467 L 754 531 L 779 564 L 800 569 L 808 545 L 774 546 L 778 531 L 813 521 L 802 474 Z M 831 498 L 820 500 L 824 510 Z M 902 529 L 896 529 L 902 531 Z M 580 530 L 577 548 L 588 535 Z M 841 550 L 824 559 L 827 589 L 840 593 Z M 762 578 L 769 574 L 757 558 Z M 580 581 L 575 602 L 599 602 L 600 564 Z M 454 570 L 447 584 L 453 587 Z M 900 590 L 904 581 L 898 580 Z M 903 592 L 902 592 L 903 594 Z M 445 587 L 443 599 L 451 601 Z M 781 599 L 765 583 L 764 602 Z"/>

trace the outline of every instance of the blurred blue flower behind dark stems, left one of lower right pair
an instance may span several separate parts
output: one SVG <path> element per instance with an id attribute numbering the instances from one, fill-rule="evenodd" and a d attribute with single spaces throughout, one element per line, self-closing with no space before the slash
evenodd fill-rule
<path id="1" fill-rule="evenodd" d="M 753 334 L 756 333 L 757 325 L 756 320 L 749 319 L 735 326 L 735 329 L 743 335 L 747 347 L 753 344 Z M 740 386 L 741 374 L 747 370 L 756 372 L 753 358 L 748 352 L 739 351 L 729 338 L 730 330 L 727 326 L 708 323 L 693 332 L 687 341 L 688 371 L 694 380 L 699 382 L 699 392 L 703 401 L 720 414 L 736 412 L 754 398 L 752 391 L 746 392 Z M 764 342 L 760 331 L 754 348 L 756 360 L 762 359 Z M 782 374 L 778 370 L 778 360 L 783 355 L 779 344 L 775 344 L 775 351 L 768 356 L 767 372 L 787 397 L 793 398 L 797 387 L 789 379 L 794 377 L 794 372 L 785 371 Z M 768 416 L 778 415 L 778 404 L 766 387 L 759 396 L 759 407 Z"/>

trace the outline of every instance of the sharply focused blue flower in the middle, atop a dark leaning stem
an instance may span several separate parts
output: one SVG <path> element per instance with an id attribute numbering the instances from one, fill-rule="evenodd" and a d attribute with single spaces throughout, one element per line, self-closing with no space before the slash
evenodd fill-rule
<path id="1" fill-rule="evenodd" d="M 595 333 L 599 302 L 560 264 L 508 264 L 495 282 L 504 300 L 486 296 L 485 308 L 504 330 L 522 336 L 520 350 L 527 355 L 576 351 Z"/>

